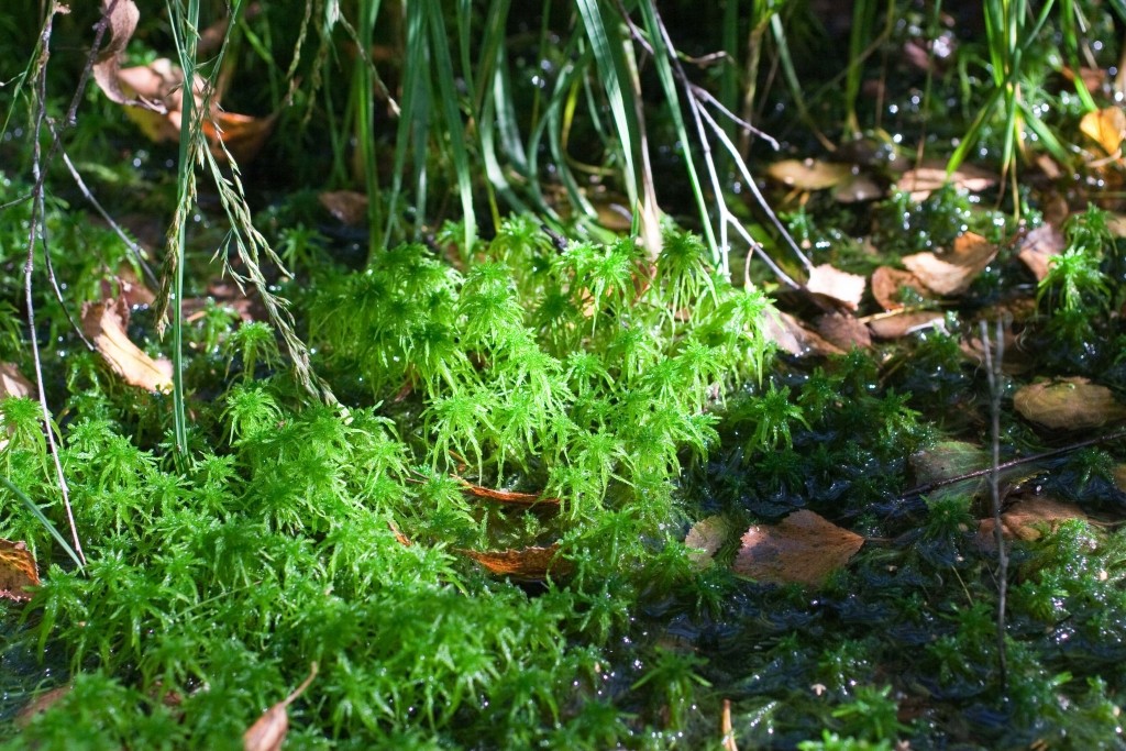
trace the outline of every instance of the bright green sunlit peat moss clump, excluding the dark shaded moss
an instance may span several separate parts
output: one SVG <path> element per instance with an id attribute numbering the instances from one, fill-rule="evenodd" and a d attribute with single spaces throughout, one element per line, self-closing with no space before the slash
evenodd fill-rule
<path id="1" fill-rule="evenodd" d="M 770 349 L 767 299 L 704 252 L 676 232 L 655 265 L 628 241 L 556 251 L 512 221 L 464 271 L 421 245 L 328 271 L 306 320 L 354 404 L 302 405 L 272 337 L 245 324 L 218 345 L 225 368 L 214 345 L 191 364 L 227 381 L 191 403 L 196 448 L 177 461 L 128 437 L 135 404 L 89 360 L 60 456 L 88 565 L 48 565 L 59 548 L 19 506 L 0 519 L 45 569 L 8 615 L 10 650 L 50 650 L 73 686 L 12 744 L 233 748 L 312 662 L 291 707 L 306 745 L 606 748 L 664 726 L 697 663 L 658 655 L 652 678 L 606 683 L 615 655 L 649 674 L 609 644 L 691 579 L 676 480 Z M 5 402 L 2 461 L 65 528 L 35 410 Z M 512 510 L 468 482 L 560 503 Z M 531 588 L 463 554 L 536 545 L 557 545 L 565 574 Z"/>

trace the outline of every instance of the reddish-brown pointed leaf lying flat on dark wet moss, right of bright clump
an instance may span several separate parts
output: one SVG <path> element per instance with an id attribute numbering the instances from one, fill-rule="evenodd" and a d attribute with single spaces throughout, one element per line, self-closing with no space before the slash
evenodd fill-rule
<path id="1" fill-rule="evenodd" d="M 751 527 L 742 542 L 732 564 L 740 576 L 816 587 L 856 555 L 864 537 L 803 509 L 777 525 Z"/>

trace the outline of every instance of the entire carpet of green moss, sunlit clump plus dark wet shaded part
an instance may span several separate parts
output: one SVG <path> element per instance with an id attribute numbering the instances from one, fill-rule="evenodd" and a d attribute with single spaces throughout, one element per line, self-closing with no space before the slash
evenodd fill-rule
<path id="1" fill-rule="evenodd" d="M 520 218 L 456 265 L 421 244 L 358 271 L 322 252 L 292 293 L 341 404 L 310 403 L 263 324 L 199 319 L 188 457 L 167 397 L 55 324 L 45 372 L 88 565 L 9 495 L 2 536 L 43 585 L 6 606 L 6 713 L 72 687 L 9 725 L 15 746 L 236 746 L 314 662 L 294 745 L 699 748 L 723 699 L 751 748 L 823 728 L 874 748 L 1117 743 L 1121 533 L 1075 520 L 1013 547 L 1001 686 L 981 495 L 905 494 L 912 453 L 988 413 L 956 331 L 900 343 L 894 367 L 771 359 L 768 301 L 671 230 L 651 271 L 632 242 L 558 249 Z M 1043 336 L 1063 336 L 1053 321 Z M 1090 367 L 1120 387 L 1105 357 Z M 37 405 L 2 414 L 6 477 L 63 527 Z M 1046 445 L 1003 424 L 1007 454 Z M 1114 517 L 1115 466 L 1089 448 L 1025 482 Z M 819 591 L 736 578 L 731 545 L 700 571 L 681 542 L 711 513 L 797 508 L 872 540 Z M 546 578 L 464 553 L 549 545 Z"/>

